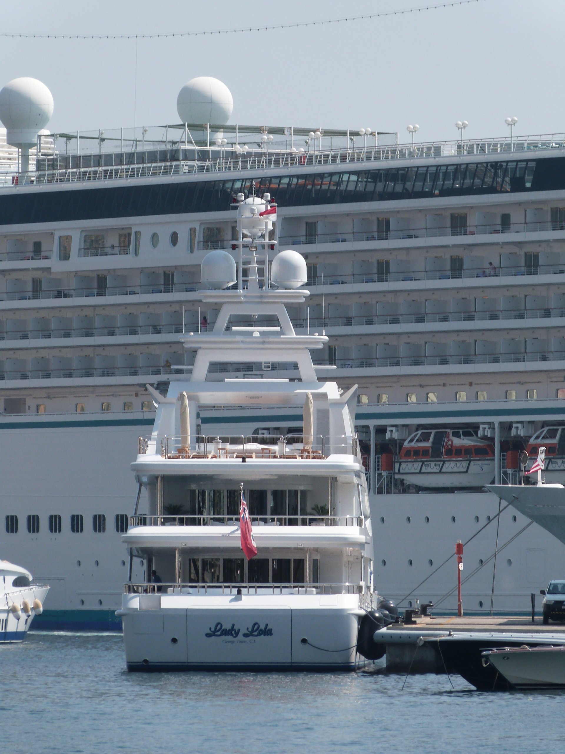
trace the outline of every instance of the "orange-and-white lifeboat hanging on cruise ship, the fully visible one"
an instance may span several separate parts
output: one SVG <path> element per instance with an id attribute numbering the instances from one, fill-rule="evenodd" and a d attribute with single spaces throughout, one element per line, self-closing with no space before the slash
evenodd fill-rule
<path id="1" fill-rule="evenodd" d="M 474 429 L 414 432 L 395 463 L 397 479 L 424 489 L 481 488 L 494 474 L 493 443 Z"/>

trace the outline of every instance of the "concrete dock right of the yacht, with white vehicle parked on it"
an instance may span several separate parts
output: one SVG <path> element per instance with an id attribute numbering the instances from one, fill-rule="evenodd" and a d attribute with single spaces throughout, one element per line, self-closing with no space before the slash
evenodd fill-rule
<path id="1" fill-rule="evenodd" d="M 565 623 L 551 621 L 547 626 L 542 624 L 541 616 L 536 616 L 532 623 L 531 616 L 419 616 L 410 624 L 392 624 L 383 629 L 386 633 L 394 633 L 395 643 L 386 644 L 386 670 L 392 673 L 445 673 L 444 666 L 438 653 L 431 645 L 416 644 L 417 637 L 432 636 L 449 631 L 463 631 L 472 633 L 539 633 L 540 636 L 551 634 L 559 636 L 565 642 Z M 405 641 L 403 638 L 405 636 Z M 392 639 L 392 636 L 390 637 Z"/>

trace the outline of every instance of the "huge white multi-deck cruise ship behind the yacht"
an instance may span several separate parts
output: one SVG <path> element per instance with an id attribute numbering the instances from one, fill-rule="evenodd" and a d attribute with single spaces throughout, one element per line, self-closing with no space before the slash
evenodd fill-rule
<path id="1" fill-rule="evenodd" d="M 359 385 L 379 593 L 455 611 L 461 541 L 466 613 L 529 612 L 565 549 L 484 486 L 516 483 L 530 438 L 565 425 L 565 136 L 402 144 L 375 124 L 228 124 L 232 106 L 197 78 L 177 124 L 49 133 L 44 84 L 0 93 L 0 550 L 50 586 L 34 625 L 117 628 L 124 581 L 145 581 L 121 542 L 148 510 L 129 465 L 191 372 L 179 335 L 215 324 L 200 265 L 235 256 L 252 192 L 277 205 L 276 249 L 307 261 L 289 315 L 328 337 L 316 374 Z M 215 374 L 294 380 L 298 365 Z M 292 437 L 303 416 L 248 403 L 197 421 L 212 440 Z"/>

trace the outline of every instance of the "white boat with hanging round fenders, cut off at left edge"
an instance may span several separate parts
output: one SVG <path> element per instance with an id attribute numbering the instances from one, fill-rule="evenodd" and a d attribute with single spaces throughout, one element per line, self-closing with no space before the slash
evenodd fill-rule
<path id="1" fill-rule="evenodd" d="M 8 560 L 0 560 L 0 578 L 0 644 L 22 642 L 49 587 L 32 584 L 29 571 Z"/>

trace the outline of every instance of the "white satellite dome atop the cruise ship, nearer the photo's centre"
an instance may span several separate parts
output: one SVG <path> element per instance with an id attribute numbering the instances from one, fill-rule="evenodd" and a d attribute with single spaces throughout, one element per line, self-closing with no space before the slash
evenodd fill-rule
<path id="1" fill-rule="evenodd" d="M 179 91 L 176 109 L 183 123 L 225 125 L 234 110 L 234 99 L 225 84 L 212 76 L 192 78 Z"/>

